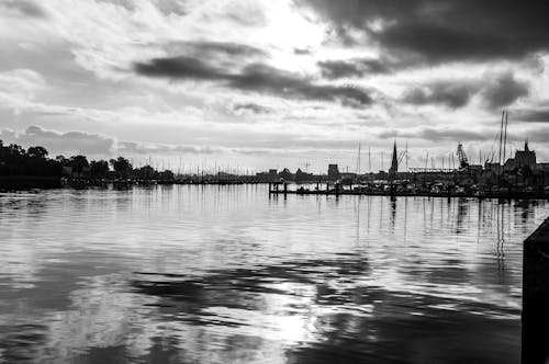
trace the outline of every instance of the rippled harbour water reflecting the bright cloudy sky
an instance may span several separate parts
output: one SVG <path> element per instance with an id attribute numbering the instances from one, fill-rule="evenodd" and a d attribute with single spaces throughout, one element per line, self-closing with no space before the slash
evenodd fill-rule
<path id="1" fill-rule="evenodd" d="M 0 194 L 0 361 L 518 363 L 546 202 Z"/>

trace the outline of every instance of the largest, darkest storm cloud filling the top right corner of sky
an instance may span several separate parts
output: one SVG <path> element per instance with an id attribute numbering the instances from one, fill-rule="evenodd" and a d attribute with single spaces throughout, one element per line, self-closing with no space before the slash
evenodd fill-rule
<path id="1" fill-rule="evenodd" d="M 522 58 L 549 50 L 544 1 L 526 0 L 294 0 L 330 22 L 392 52 L 429 62 Z"/>

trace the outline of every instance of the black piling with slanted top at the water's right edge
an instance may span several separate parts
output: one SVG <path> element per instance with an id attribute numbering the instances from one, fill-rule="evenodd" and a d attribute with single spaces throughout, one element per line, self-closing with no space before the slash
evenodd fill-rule
<path id="1" fill-rule="evenodd" d="M 522 362 L 549 359 L 549 218 L 523 244 Z"/>

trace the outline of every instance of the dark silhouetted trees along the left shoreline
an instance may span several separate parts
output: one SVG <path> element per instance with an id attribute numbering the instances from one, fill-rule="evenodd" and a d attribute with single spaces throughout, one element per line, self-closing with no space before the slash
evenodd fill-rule
<path id="1" fill-rule="evenodd" d="M 134 168 L 124 157 L 91 160 L 82 155 L 48 158 L 46 148 L 24 149 L 16 144 L 4 146 L 0 140 L 0 175 L 68 177 L 89 179 L 173 180 L 171 171 L 157 171 L 150 166 Z"/>

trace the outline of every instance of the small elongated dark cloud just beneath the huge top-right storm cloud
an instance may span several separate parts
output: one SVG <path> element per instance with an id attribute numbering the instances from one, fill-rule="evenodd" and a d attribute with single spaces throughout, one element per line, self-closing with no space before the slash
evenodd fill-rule
<path id="1" fill-rule="evenodd" d="M 389 73 L 393 66 L 389 60 L 381 59 L 348 59 L 321 60 L 317 62 L 321 73 L 327 79 L 346 77 L 362 77 L 365 75 Z"/>

